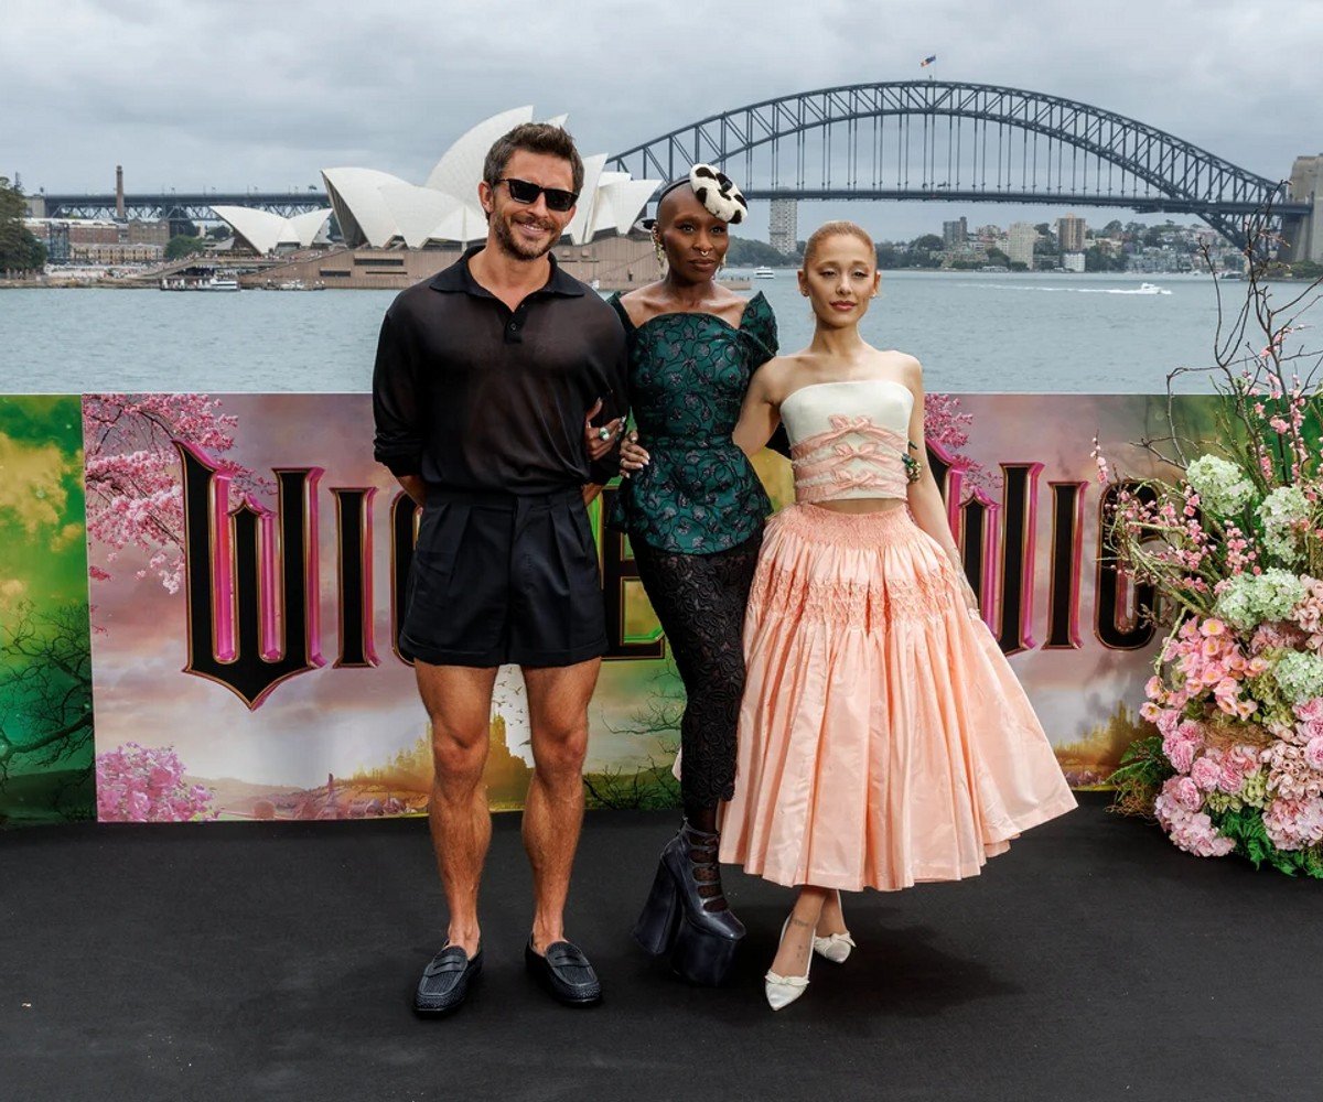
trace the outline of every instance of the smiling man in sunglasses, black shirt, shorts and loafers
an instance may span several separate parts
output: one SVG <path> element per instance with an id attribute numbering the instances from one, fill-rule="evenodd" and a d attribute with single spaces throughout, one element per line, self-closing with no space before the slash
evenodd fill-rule
<path id="1" fill-rule="evenodd" d="M 516 127 L 488 152 L 483 177 L 487 241 L 394 300 L 373 376 L 376 456 L 423 507 L 400 643 L 431 720 L 431 835 L 450 927 L 419 980 L 419 1013 L 458 1007 L 482 970 L 483 766 L 505 663 L 524 672 L 534 761 L 525 963 L 561 1001 L 601 997 L 591 964 L 565 938 L 564 910 L 583 818 L 587 702 L 606 651 L 583 503 L 587 486 L 614 474 L 589 459 L 583 423 L 598 400 L 607 415 L 626 407 L 624 333 L 550 255 L 583 184 L 569 135 Z"/>

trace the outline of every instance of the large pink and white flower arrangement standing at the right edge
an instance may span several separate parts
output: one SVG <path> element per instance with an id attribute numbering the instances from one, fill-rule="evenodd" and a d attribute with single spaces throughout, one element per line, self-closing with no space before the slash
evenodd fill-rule
<path id="1" fill-rule="evenodd" d="M 1121 558 L 1175 616 L 1140 708 L 1156 734 L 1115 781 L 1181 849 L 1323 878 L 1323 456 L 1298 382 L 1252 390 L 1230 396 L 1244 455 L 1118 489 Z"/>

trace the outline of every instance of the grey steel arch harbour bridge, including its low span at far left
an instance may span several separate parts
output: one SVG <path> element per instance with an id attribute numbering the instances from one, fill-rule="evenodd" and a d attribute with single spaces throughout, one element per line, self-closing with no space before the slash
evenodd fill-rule
<path id="1" fill-rule="evenodd" d="M 671 180 L 697 160 L 750 198 L 1111 206 L 1193 214 L 1238 246 L 1270 212 L 1287 239 L 1312 194 L 1136 119 L 1019 89 L 953 81 L 847 85 L 712 115 L 617 153 L 610 168 Z M 110 217 L 115 194 L 45 196 L 48 217 Z M 124 217 L 209 220 L 213 204 L 283 216 L 324 206 L 288 193 L 128 194 Z"/>

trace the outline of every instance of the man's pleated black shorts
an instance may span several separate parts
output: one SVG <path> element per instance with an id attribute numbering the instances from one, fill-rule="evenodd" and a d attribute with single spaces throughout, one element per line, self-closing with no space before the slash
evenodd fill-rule
<path id="1" fill-rule="evenodd" d="M 578 488 L 427 487 L 400 651 L 433 665 L 573 665 L 606 654 L 597 542 Z"/>

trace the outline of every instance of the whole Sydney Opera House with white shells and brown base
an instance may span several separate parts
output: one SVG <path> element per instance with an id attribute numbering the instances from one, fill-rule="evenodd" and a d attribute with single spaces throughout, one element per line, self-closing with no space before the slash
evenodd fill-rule
<path id="1" fill-rule="evenodd" d="M 497 138 L 532 119 L 532 107 L 519 107 L 480 122 L 446 149 L 423 184 L 374 168 L 327 168 L 321 179 L 329 209 L 294 218 L 241 206 L 213 209 L 234 230 L 235 243 L 254 253 L 318 250 L 316 255 L 296 254 L 287 265 L 267 269 L 261 279 L 300 279 L 307 286 L 328 287 L 406 287 L 448 266 L 464 247 L 487 237 L 487 220 L 478 202 L 483 160 Z M 549 122 L 564 126 L 565 116 Z M 603 288 L 646 283 L 659 274 L 656 258 L 651 241 L 634 225 L 660 181 L 609 172 L 606 161 L 606 153 L 583 157 L 583 188 L 556 258 L 570 274 Z M 343 247 L 331 247 L 325 238 L 332 213 Z"/>

